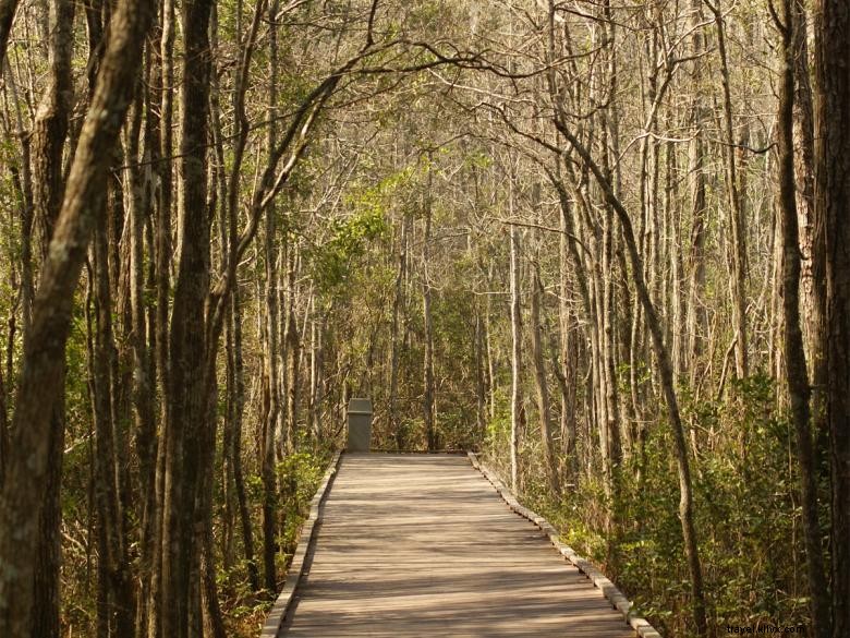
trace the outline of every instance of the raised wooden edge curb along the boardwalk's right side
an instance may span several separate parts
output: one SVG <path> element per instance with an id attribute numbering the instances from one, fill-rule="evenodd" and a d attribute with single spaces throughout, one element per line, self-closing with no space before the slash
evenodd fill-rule
<path id="1" fill-rule="evenodd" d="M 579 571 L 591 579 L 593 585 L 599 591 L 602 591 L 603 595 L 605 595 L 611 606 L 622 614 L 626 623 L 632 629 L 634 629 L 635 635 L 640 636 L 640 638 L 661 638 L 661 635 L 649 624 L 646 618 L 636 615 L 632 611 L 632 603 L 614 585 L 614 582 L 611 582 L 602 571 L 599 571 L 599 569 L 597 569 L 593 563 L 576 554 L 575 551 L 569 545 L 563 544 L 560 541 L 560 534 L 558 534 L 558 530 L 555 529 L 555 527 L 539 514 L 532 511 L 527 507 L 523 506 L 517 499 L 517 496 L 514 496 L 513 493 L 507 487 L 507 485 L 501 482 L 501 479 L 499 479 L 499 477 L 493 470 L 490 470 L 478 459 L 477 454 L 470 452 L 466 454 L 466 456 L 470 459 L 472 467 L 484 474 L 484 478 L 487 479 L 496 489 L 496 492 L 498 492 L 502 501 L 508 504 L 508 507 L 510 507 L 513 511 L 523 518 L 527 518 L 530 521 L 536 525 L 541 531 L 543 531 L 549 538 L 549 542 L 551 542 L 555 549 L 558 550 L 561 556 L 567 558 L 579 569 Z"/>

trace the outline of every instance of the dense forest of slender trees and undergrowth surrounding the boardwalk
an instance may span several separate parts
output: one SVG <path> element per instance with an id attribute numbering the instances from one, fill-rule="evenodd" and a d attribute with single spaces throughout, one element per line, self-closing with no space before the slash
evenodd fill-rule
<path id="1" fill-rule="evenodd" d="M 848 43 L 845 0 L 0 0 L 0 635 L 256 635 L 368 396 L 667 636 L 850 636 Z"/>

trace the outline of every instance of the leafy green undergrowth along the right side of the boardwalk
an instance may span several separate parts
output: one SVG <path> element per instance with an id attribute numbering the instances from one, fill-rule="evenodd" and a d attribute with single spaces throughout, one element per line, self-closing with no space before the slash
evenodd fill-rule
<path id="1" fill-rule="evenodd" d="M 773 382 L 764 376 L 733 384 L 720 401 L 683 398 L 712 636 L 725 636 L 727 625 L 809 624 L 793 432 L 776 406 Z M 606 495 L 602 471 L 594 470 L 566 481 L 563 495 L 554 499 L 543 468 L 525 473 L 521 495 L 664 636 L 690 638 L 691 583 L 672 443 L 659 411 L 643 448 L 620 468 L 617 497 Z M 491 462 L 509 476 L 502 459 Z"/>

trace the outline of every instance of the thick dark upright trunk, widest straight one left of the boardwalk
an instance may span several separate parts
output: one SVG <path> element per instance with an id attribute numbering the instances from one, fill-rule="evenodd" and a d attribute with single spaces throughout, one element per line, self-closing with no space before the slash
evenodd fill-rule
<path id="1" fill-rule="evenodd" d="M 168 422 L 162 557 L 163 636 L 194 638 L 203 631 L 199 543 L 194 528 L 208 416 L 209 220 L 207 116 L 209 107 L 211 0 L 182 7 L 185 56 L 181 82 L 178 161 L 178 278 L 169 335 Z"/>

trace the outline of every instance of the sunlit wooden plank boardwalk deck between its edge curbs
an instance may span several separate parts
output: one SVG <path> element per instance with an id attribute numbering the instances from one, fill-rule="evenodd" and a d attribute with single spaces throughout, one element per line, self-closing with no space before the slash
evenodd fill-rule
<path id="1" fill-rule="evenodd" d="M 349 454 L 282 636 L 634 631 L 462 456 Z"/>

